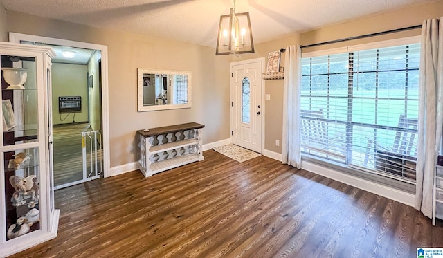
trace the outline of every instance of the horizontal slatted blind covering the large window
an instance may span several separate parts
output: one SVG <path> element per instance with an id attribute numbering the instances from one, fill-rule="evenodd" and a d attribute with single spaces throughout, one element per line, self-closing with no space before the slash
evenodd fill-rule
<path id="1" fill-rule="evenodd" d="M 415 181 L 419 44 L 302 58 L 303 154 Z"/>

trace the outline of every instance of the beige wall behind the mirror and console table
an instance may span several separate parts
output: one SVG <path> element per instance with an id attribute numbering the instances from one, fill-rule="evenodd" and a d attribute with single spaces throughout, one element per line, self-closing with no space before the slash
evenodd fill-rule
<path id="1" fill-rule="evenodd" d="M 7 12 L 7 29 L 108 46 L 111 167 L 136 161 L 136 130 L 199 122 L 204 143 L 229 138 L 229 66 L 214 48 Z M 192 72 L 192 108 L 137 112 L 137 68 Z"/>

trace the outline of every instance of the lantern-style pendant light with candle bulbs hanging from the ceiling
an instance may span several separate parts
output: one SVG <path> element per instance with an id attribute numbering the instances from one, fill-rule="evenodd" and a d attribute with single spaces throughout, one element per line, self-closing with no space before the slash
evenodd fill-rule
<path id="1" fill-rule="evenodd" d="M 235 13 L 234 0 L 234 8 L 230 8 L 230 14 L 220 16 L 215 55 L 245 53 L 254 53 L 251 19 L 249 12 Z"/>

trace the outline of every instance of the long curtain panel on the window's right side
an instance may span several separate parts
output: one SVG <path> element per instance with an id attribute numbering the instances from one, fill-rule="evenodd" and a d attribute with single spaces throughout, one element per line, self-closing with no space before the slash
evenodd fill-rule
<path id="1" fill-rule="evenodd" d="M 443 126 L 443 17 L 422 26 L 415 208 L 432 217 L 435 165 Z"/>

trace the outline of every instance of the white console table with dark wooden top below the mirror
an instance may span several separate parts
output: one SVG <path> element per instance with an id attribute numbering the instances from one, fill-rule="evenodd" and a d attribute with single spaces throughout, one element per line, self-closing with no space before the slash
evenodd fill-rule
<path id="1" fill-rule="evenodd" d="M 204 125 L 196 122 L 189 122 L 138 130 L 140 171 L 147 177 L 203 160 L 201 141 L 203 127 Z"/>

